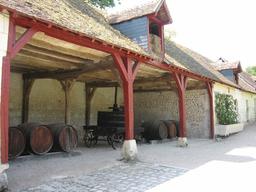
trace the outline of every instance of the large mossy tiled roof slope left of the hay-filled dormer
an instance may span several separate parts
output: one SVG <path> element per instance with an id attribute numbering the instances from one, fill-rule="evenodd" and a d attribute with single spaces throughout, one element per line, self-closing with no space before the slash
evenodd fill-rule
<path id="1" fill-rule="evenodd" d="M 105 18 L 106 12 L 83 0 L 1 0 L 0 6 L 157 59 L 154 54 L 109 25 Z"/>

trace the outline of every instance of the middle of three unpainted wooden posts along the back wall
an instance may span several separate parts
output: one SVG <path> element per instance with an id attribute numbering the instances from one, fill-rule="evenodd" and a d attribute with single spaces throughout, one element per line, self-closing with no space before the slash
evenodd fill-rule
<path id="1" fill-rule="evenodd" d="M 70 92 L 76 82 L 76 79 L 72 79 L 70 81 L 69 79 L 65 79 L 65 84 L 63 81 L 60 81 L 60 84 L 62 85 L 62 88 L 65 91 L 65 97 L 66 97 L 66 108 L 65 108 L 65 124 L 70 124 L 70 113 L 71 113 L 71 106 L 70 106 Z"/>

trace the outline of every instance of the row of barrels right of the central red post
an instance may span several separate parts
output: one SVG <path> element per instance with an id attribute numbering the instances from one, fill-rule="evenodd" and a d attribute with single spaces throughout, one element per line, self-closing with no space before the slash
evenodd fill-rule
<path id="1" fill-rule="evenodd" d="M 177 120 L 160 120 L 147 121 L 141 124 L 144 127 L 143 138 L 148 140 L 164 140 L 166 138 L 179 137 L 180 121 Z"/>

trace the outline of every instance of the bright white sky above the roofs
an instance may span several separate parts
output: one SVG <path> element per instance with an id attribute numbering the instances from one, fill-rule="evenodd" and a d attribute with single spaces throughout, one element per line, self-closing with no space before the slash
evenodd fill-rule
<path id="1" fill-rule="evenodd" d="M 120 0 L 107 12 L 118 12 L 152 0 Z M 217 61 L 240 60 L 243 70 L 256 65 L 256 12 L 250 0 L 166 0 L 177 32 L 172 40 Z"/>

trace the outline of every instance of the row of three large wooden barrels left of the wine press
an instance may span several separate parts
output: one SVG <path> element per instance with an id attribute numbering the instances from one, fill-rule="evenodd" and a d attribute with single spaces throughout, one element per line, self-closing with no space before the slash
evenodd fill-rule
<path id="1" fill-rule="evenodd" d="M 78 134 L 76 129 L 68 124 L 54 123 L 44 125 L 29 122 L 14 126 L 9 124 L 8 157 L 14 158 L 20 154 L 43 155 L 47 152 L 69 152 L 76 148 Z"/>

